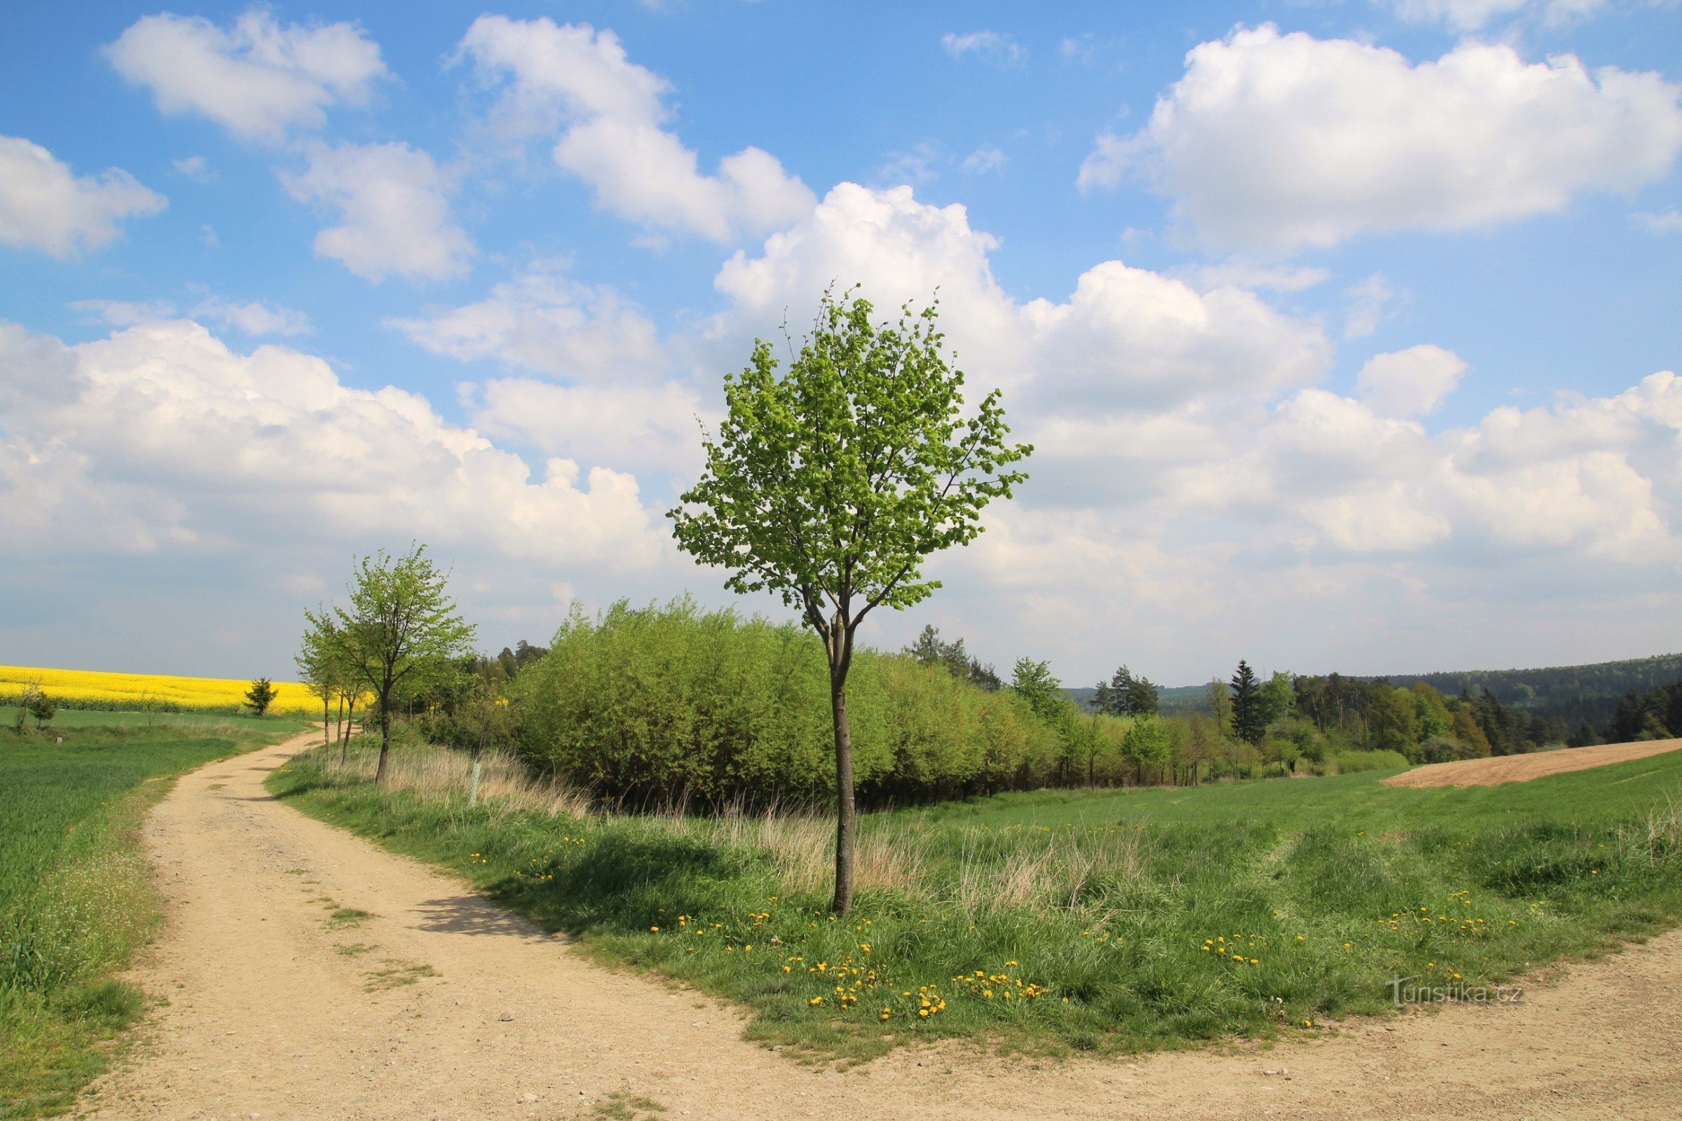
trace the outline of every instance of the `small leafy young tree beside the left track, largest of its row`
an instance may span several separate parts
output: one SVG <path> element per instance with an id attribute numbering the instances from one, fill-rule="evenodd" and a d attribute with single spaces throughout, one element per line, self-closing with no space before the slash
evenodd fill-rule
<path id="1" fill-rule="evenodd" d="M 309 627 L 333 635 L 333 655 L 346 677 L 373 692 L 380 706 L 375 785 L 385 782 L 392 750 L 392 703 L 449 676 L 456 660 L 473 652 L 474 627 L 446 593 L 447 580 L 424 545 L 402 556 L 380 550 L 357 561 L 348 608 L 304 612 Z"/>

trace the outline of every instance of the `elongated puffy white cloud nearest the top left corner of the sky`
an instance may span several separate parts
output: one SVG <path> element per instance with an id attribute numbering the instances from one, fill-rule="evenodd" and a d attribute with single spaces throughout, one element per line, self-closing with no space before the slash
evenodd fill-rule
<path id="1" fill-rule="evenodd" d="M 281 141 L 320 128 L 333 104 L 362 104 L 385 77 L 380 47 L 355 24 L 281 25 L 254 7 L 229 27 L 198 15 L 146 15 L 106 47 L 118 74 L 161 113 L 197 113 L 235 136 Z"/>

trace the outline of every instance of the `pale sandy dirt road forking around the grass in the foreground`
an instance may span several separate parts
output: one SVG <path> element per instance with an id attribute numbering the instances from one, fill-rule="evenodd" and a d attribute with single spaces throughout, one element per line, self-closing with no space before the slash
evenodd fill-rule
<path id="1" fill-rule="evenodd" d="M 274 802 L 262 778 L 308 743 L 205 766 L 158 805 L 168 919 L 136 980 L 167 1003 L 86 1116 L 1682 1116 L 1677 933 L 1517 1003 L 1270 1050 L 1033 1062 L 935 1047 L 801 1066 L 743 1042 L 732 1008 L 592 965 L 458 881 Z"/>

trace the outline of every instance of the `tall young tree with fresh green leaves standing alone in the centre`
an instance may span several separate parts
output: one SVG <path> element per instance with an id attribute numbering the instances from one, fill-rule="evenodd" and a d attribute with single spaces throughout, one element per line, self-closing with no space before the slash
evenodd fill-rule
<path id="1" fill-rule="evenodd" d="M 849 299 L 851 297 L 851 299 Z M 871 323 L 866 299 L 824 292 L 812 334 L 777 373 L 770 345 L 725 376 L 727 415 L 706 469 L 668 513 L 678 546 L 730 570 L 732 592 L 769 590 L 801 612 L 829 660 L 836 745 L 834 909 L 853 906 L 853 733 L 846 677 L 860 622 L 940 587 L 923 561 L 981 531 L 981 511 L 1026 474 L 999 393 L 964 415 L 937 308 Z"/>

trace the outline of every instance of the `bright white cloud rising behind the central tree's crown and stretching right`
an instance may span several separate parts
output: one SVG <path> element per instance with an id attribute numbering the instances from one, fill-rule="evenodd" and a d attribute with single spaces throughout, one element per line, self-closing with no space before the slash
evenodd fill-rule
<path id="1" fill-rule="evenodd" d="M 1113 412 L 1204 393 L 1267 395 L 1305 385 L 1330 365 L 1319 328 L 1233 286 L 1191 284 L 1120 261 L 1090 267 L 1066 301 L 1011 299 L 962 205 L 917 202 L 910 187 L 841 183 L 809 218 L 738 252 L 715 286 L 733 311 L 732 338 L 780 321 L 796 329 L 836 277 L 858 282 L 883 311 L 918 306 L 939 289 L 960 365 L 984 385 L 1029 393 L 1041 412 Z"/>

